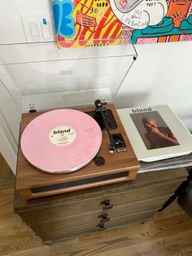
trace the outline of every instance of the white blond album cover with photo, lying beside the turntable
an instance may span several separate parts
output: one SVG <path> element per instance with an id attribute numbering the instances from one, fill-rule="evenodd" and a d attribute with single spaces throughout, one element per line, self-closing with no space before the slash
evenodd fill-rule
<path id="1" fill-rule="evenodd" d="M 140 161 L 158 161 L 192 152 L 192 135 L 167 105 L 124 108 L 118 113 Z"/>

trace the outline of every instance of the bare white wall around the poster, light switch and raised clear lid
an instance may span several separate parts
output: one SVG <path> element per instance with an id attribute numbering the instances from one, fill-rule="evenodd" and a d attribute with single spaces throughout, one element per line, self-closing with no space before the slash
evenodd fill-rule
<path id="1" fill-rule="evenodd" d="M 21 13 L 51 11 L 51 0 L 4 1 L 0 8 L 0 44 L 26 42 Z M 137 60 L 115 99 L 117 108 L 168 104 L 192 130 L 192 42 L 137 45 L 136 50 Z M 111 70 L 111 74 L 118 76 L 116 68 Z M 27 76 L 26 73 L 24 75 Z M 1 99 L 2 113 L 7 108 L 5 104 Z M 15 118 L 20 118 L 20 114 L 17 115 Z M 15 118 L 7 118 L 11 120 L 7 123 L 16 138 L 19 121 Z"/>

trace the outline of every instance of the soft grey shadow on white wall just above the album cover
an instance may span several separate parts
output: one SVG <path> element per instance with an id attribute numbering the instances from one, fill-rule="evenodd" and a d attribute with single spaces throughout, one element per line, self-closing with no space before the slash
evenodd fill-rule
<path id="1" fill-rule="evenodd" d="M 142 107 L 148 101 L 149 95 L 149 92 L 119 94 L 114 99 L 114 103 L 116 104 L 116 108 Z"/>

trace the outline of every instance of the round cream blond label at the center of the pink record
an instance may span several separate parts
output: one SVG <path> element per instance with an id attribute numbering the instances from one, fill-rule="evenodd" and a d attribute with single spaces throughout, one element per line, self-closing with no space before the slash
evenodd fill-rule
<path id="1" fill-rule="evenodd" d="M 76 131 L 71 126 L 57 126 L 50 131 L 49 137 L 51 143 L 66 146 L 76 139 Z"/>

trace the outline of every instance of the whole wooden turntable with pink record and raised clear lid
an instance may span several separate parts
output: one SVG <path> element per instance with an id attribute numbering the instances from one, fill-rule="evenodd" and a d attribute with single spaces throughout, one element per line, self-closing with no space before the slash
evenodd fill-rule
<path id="1" fill-rule="evenodd" d="M 136 59 L 131 45 L 59 51 L 46 42 L 0 52 L 23 113 L 15 189 L 24 199 L 136 178 L 137 158 L 111 104 Z"/>

